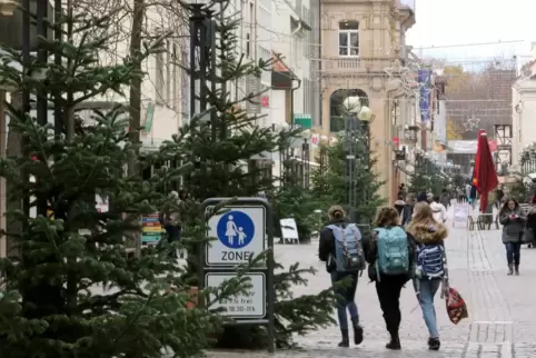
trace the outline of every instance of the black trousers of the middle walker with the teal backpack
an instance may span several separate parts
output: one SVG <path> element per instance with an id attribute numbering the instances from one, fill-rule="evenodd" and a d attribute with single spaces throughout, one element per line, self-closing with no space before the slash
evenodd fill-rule
<path id="1" fill-rule="evenodd" d="M 398 329 L 400 328 L 400 291 L 407 281 L 407 275 L 381 275 L 380 281 L 376 281 L 379 307 L 384 312 L 387 331 L 391 336 L 398 335 Z"/>

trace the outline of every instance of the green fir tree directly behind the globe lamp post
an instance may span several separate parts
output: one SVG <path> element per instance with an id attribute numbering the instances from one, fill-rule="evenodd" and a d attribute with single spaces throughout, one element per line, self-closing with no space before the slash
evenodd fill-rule
<path id="1" fill-rule="evenodd" d="M 378 195 L 378 189 L 385 182 L 379 180 L 379 175 L 374 171 L 377 158 L 374 152 L 368 153 L 369 149 L 363 142 L 363 140 L 358 140 L 356 151 L 356 176 L 354 178 L 358 193 L 356 212 L 358 221 L 361 221 L 359 218 L 364 218 L 363 222 L 369 222 L 378 207 L 385 203 L 386 199 Z M 369 158 L 368 162 L 367 158 Z M 320 167 L 312 170 L 311 195 L 318 206 L 324 212 L 327 212 L 332 205 L 343 205 L 348 209 L 344 138 L 339 137 L 331 146 L 321 145 L 317 161 L 320 162 Z"/>

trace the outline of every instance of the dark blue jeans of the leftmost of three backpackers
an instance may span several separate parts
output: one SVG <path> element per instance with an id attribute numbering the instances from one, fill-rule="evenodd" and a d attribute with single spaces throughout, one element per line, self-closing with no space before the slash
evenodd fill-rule
<path id="1" fill-rule="evenodd" d="M 350 318 L 354 324 L 359 322 L 359 315 L 357 312 L 357 305 L 355 302 L 357 290 L 357 274 L 356 272 L 331 272 L 331 284 L 338 282 L 349 277 L 348 286 L 337 288 L 336 292 L 340 296 L 337 301 L 337 317 L 339 319 L 340 329 L 348 329 L 348 315 L 346 309 L 350 312 Z"/>

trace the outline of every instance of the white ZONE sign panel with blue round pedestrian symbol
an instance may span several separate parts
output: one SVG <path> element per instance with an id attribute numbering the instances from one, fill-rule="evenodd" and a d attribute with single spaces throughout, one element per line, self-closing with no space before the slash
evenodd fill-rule
<path id="1" fill-rule="evenodd" d="M 226 207 L 224 215 L 208 220 L 207 266 L 247 263 L 265 250 L 266 209 L 257 207 Z"/>

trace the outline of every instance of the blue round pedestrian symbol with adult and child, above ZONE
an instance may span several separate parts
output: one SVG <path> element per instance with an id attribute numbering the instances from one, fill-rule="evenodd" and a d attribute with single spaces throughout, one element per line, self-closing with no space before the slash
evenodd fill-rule
<path id="1" fill-rule="evenodd" d="M 218 240 L 229 249 L 241 249 L 251 242 L 255 236 L 255 225 L 251 218 L 242 211 L 226 212 L 216 227 Z"/>

